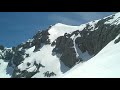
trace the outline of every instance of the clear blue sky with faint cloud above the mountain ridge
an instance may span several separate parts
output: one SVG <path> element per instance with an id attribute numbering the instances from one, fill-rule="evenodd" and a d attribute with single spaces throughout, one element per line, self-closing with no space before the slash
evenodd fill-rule
<path id="1" fill-rule="evenodd" d="M 55 23 L 80 25 L 114 12 L 0 12 L 0 44 L 12 47 Z"/>

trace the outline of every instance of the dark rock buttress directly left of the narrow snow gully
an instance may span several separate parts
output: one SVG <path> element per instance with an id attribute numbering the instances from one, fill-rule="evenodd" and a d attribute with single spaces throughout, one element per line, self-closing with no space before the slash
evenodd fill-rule
<path id="1" fill-rule="evenodd" d="M 69 34 L 68 34 L 69 35 Z M 53 49 L 53 53 L 55 53 L 58 57 L 60 56 L 60 60 L 68 67 L 72 67 L 75 65 L 79 59 L 76 57 L 73 40 L 65 34 L 64 36 L 58 37 L 56 40 L 56 47 Z"/>

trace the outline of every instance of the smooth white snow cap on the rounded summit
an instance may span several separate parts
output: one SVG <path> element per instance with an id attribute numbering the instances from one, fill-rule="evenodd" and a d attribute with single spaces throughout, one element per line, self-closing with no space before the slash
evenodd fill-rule
<path id="1" fill-rule="evenodd" d="M 49 39 L 53 42 L 57 37 L 63 36 L 65 33 L 72 33 L 76 30 L 83 30 L 86 27 L 86 24 L 82 24 L 80 26 L 70 26 L 62 23 L 57 23 L 52 26 L 52 28 L 48 31 L 50 33 Z"/>

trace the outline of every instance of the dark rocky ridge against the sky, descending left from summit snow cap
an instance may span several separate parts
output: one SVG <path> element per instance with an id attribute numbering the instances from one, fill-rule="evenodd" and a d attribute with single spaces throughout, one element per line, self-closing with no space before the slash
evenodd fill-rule
<path id="1" fill-rule="evenodd" d="M 43 46 L 43 44 L 50 44 L 49 35 L 50 34 L 48 33 L 48 30 L 38 31 L 38 33 L 35 36 L 33 36 L 32 39 L 13 48 L 16 48 L 18 50 L 20 48 L 29 49 L 35 46 L 34 51 L 37 51 Z"/>

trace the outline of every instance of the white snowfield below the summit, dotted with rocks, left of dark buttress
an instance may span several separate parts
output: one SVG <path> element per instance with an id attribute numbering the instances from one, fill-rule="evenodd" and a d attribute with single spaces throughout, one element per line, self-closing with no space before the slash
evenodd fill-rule
<path id="1" fill-rule="evenodd" d="M 30 57 L 26 58 L 22 64 L 18 66 L 18 68 L 22 70 L 27 70 L 28 72 L 32 72 L 36 69 L 36 67 L 33 65 L 34 61 L 37 63 L 42 64 L 45 67 L 40 67 L 39 73 L 33 76 L 33 78 L 43 78 L 46 71 L 54 72 L 55 74 L 62 74 L 60 69 L 60 61 L 59 58 L 55 55 L 52 55 L 52 50 L 54 47 L 51 47 L 51 45 L 44 45 L 40 51 L 33 52 L 34 47 L 27 50 L 27 53 L 30 54 Z M 28 67 L 27 63 L 31 63 L 31 65 Z M 29 69 L 28 69 L 29 68 Z"/>

